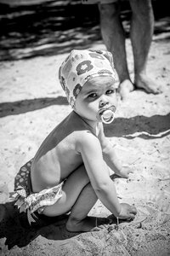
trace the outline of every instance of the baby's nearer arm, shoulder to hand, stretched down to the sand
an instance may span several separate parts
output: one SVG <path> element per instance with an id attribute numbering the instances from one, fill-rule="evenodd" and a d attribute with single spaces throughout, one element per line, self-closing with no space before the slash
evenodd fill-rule
<path id="1" fill-rule="evenodd" d="M 84 133 L 78 140 L 77 151 L 82 154 L 88 177 L 99 200 L 116 217 L 134 218 L 136 210 L 127 204 L 120 204 L 117 199 L 115 185 L 109 175 L 109 168 L 103 160 L 99 139 L 89 132 Z"/>

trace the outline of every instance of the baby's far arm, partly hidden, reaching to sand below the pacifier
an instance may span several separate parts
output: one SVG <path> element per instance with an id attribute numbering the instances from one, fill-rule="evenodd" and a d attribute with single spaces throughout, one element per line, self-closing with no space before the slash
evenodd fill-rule
<path id="1" fill-rule="evenodd" d="M 104 160 L 111 170 L 120 177 L 128 177 L 128 174 L 132 172 L 129 167 L 122 166 L 121 160 L 116 155 L 115 147 L 105 138 L 104 128 L 102 124 L 99 124 L 99 141 L 101 143 Z"/>

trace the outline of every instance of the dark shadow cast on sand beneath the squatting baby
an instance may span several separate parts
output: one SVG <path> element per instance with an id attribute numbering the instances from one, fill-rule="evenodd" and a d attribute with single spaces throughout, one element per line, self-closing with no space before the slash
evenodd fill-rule
<path id="1" fill-rule="evenodd" d="M 43 216 L 41 224 L 29 224 L 26 213 L 20 213 L 13 202 L 0 204 L 0 239 L 6 238 L 5 246 L 8 250 L 14 246 L 26 247 L 37 236 L 48 240 L 65 240 L 82 234 L 82 232 L 69 232 L 65 229 L 68 215 L 48 218 Z M 98 224 L 108 223 L 108 218 L 98 218 Z M 116 219 L 113 218 L 113 223 Z"/>

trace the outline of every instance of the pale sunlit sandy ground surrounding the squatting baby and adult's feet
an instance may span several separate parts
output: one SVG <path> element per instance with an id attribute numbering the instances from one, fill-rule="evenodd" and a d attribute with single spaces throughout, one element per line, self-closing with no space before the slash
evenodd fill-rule
<path id="1" fill-rule="evenodd" d="M 162 36 L 162 35 L 161 35 Z M 160 39 L 160 40 L 158 40 Z M 94 49 L 105 49 L 94 44 Z M 133 59 L 127 39 L 128 65 Z M 120 201 L 134 203 L 132 223 L 99 232 L 68 234 L 65 218 L 41 229 L 26 227 L 8 192 L 14 177 L 37 152 L 44 137 L 71 112 L 57 79 L 67 54 L 0 62 L 0 253 L 2 255 L 170 255 L 170 44 L 154 38 L 148 73 L 162 93 L 133 91 L 119 100 L 116 119 L 105 135 L 122 161 L 132 166 L 128 180 L 116 178 Z M 111 214 L 99 201 L 89 215 L 102 223 Z M 23 224 L 24 223 L 24 224 Z"/>

